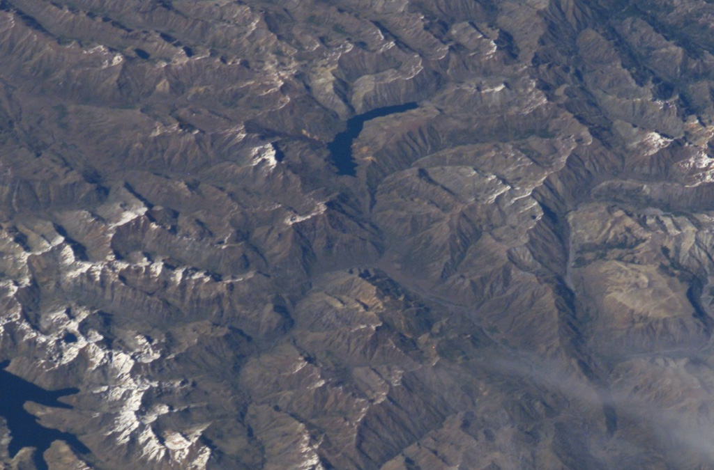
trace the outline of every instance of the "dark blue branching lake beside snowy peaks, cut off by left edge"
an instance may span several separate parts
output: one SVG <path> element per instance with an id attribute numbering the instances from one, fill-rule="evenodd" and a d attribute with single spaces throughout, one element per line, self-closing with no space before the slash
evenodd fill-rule
<path id="1" fill-rule="evenodd" d="M 4 370 L 8 364 L 9 362 L 0 363 L 0 415 L 6 419 L 11 432 L 10 457 L 16 456 L 23 447 L 35 447 L 37 452 L 34 463 L 39 470 L 46 470 L 48 467 L 42 458 L 42 453 L 49 449 L 52 441 L 56 439 L 66 441 L 73 450 L 79 451 L 81 454 L 89 452 L 89 449 L 76 436 L 41 426 L 37 419 L 23 408 L 25 402 L 35 402 L 47 407 L 71 408 L 57 399 L 75 394 L 79 390 L 49 391 L 42 389 Z"/>

